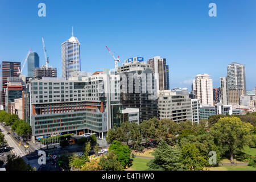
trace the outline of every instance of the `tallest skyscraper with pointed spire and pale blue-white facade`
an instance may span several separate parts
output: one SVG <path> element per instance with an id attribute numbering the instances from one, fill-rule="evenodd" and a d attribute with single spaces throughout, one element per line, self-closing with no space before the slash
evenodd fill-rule
<path id="1" fill-rule="evenodd" d="M 61 44 L 61 70 L 62 77 L 68 80 L 72 72 L 81 71 L 80 69 L 80 42 L 73 36 Z"/>

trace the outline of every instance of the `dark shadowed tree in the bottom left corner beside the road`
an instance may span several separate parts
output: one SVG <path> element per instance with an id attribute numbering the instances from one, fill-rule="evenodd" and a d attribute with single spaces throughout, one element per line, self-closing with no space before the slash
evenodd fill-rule
<path id="1" fill-rule="evenodd" d="M 7 156 L 6 171 L 31 171 L 32 168 L 22 158 L 15 155 Z"/>

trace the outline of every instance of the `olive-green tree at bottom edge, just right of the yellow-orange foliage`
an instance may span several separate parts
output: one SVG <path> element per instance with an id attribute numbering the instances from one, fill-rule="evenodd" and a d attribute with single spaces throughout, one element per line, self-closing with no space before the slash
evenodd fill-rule
<path id="1" fill-rule="evenodd" d="M 109 151 L 107 155 L 102 156 L 98 164 L 104 171 L 123 171 L 123 165 L 119 162 L 115 151 Z"/>

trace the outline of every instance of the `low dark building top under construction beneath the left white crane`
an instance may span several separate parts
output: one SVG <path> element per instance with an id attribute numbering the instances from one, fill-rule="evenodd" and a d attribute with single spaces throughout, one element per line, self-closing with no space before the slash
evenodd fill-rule
<path id="1" fill-rule="evenodd" d="M 42 79 L 43 77 L 57 77 L 57 69 L 46 65 L 34 69 L 34 77 Z"/>

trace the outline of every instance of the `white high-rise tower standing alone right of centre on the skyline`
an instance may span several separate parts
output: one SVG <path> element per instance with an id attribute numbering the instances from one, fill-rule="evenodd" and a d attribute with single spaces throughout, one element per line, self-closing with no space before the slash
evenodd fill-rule
<path id="1" fill-rule="evenodd" d="M 213 106 L 212 78 L 208 74 L 197 75 L 193 80 L 195 98 L 203 105 Z"/>

